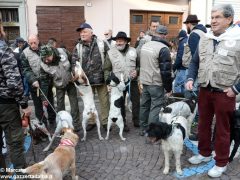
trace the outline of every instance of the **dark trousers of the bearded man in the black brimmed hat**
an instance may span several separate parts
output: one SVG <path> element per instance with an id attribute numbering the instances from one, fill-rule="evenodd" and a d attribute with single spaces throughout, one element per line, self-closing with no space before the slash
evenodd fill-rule
<path id="1" fill-rule="evenodd" d="M 131 81 L 130 86 L 126 87 L 126 90 L 123 92 L 124 102 L 121 108 L 121 113 L 123 116 L 124 122 L 126 122 L 126 109 L 125 109 L 125 97 L 127 92 L 129 93 L 130 87 L 130 100 L 132 102 L 132 122 L 135 125 L 139 125 L 139 109 L 140 109 L 140 93 L 138 89 L 138 81 Z"/>

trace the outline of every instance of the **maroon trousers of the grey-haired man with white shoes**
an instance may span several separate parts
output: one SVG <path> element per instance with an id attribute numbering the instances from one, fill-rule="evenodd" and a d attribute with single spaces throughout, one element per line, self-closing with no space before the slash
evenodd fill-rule
<path id="1" fill-rule="evenodd" d="M 235 97 L 228 97 L 226 93 L 211 92 L 200 88 L 199 93 L 199 122 L 198 122 L 198 149 L 203 156 L 210 156 L 212 121 L 216 115 L 216 132 L 214 150 L 216 165 L 223 167 L 228 163 L 230 147 L 230 123 L 235 109 Z"/>

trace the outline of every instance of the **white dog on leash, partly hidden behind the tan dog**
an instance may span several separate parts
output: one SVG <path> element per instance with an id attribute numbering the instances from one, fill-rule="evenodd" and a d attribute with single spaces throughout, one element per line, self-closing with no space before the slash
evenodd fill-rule
<path id="1" fill-rule="evenodd" d="M 60 135 L 60 133 L 62 132 L 62 130 L 64 128 L 73 128 L 73 124 L 72 124 L 72 116 L 69 114 L 69 112 L 67 111 L 59 111 L 56 115 L 56 129 L 55 132 L 53 134 L 53 137 L 50 141 L 50 143 L 48 144 L 48 146 L 43 150 L 43 151 L 48 151 L 53 143 L 53 140 L 55 139 L 56 136 Z"/>

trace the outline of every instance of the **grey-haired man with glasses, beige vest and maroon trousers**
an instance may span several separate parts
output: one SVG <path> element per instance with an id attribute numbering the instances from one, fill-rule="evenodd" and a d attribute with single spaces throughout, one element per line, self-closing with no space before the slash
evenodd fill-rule
<path id="1" fill-rule="evenodd" d="M 213 7 L 211 31 L 200 39 L 189 65 L 186 88 L 192 90 L 198 77 L 199 155 L 189 159 L 192 164 L 210 161 L 213 116 L 216 117 L 214 150 L 215 166 L 208 171 L 220 177 L 227 169 L 230 147 L 230 123 L 235 109 L 235 96 L 240 92 L 240 28 L 233 25 L 234 10 L 229 4 Z"/>

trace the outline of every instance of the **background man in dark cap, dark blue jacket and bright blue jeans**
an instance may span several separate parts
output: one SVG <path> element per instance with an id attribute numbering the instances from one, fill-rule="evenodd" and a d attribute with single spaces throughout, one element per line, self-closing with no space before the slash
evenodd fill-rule
<path id="1" fill-rule="evenodd" d="M 177 58 L 173 65 L 173 71 L 176 72 L 176 78 L 174 81 L 174 89 L 175 93 L 184 93 L 184 83 L 186 81 L 186 67 L 182 65 L 182 56 L 184 51 L 184 44 L 187 43 L 187 32 L 185 30 L 181 30 L 178 34 L 179 44 L 177 50 Z"/>

